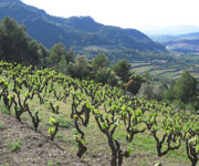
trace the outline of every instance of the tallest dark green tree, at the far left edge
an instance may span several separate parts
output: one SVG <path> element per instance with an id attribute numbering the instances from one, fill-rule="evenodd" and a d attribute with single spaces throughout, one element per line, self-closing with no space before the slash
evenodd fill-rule
<path id="1" fill-rule="evenodd" d="M 6 17 L 0 22 L 0 58 L 8 62 L 23 62 L 27 59 L 30 38 L 23 24 Z"/>

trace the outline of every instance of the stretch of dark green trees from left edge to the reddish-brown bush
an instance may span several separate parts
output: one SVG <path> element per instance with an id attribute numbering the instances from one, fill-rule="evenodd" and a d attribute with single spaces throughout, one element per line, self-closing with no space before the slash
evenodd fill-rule
<path id="1" fill-rule="evenodd" d="M 75 79 L 95 80 L 113 86 L 123 86 L 130 77 L 135 77 L 135 83 L 130 85 L 139 87 L 144 82 L 143 77 L 130 73 L 130 64 L 124 59 L 111 64 L 108 58 L 100 53 L 88 60 L 85 55 L 75 55 L 72 49 L 66 50 L 61 42 L 48 50 L 29 37 L 23 24 L 9 17 L 0 21 L 0 60 L 40 69 L 52 68 Z M 133 93 L 137 93 L 138 87 Z"/>

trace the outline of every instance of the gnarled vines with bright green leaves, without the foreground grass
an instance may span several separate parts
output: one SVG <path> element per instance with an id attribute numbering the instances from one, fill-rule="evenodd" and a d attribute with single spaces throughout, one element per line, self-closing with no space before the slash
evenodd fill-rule
<path id="1" fill-rule="evenodd" d="M 40 112 L 33 113 L 29 102 L 38 98 L 40 104 L 49 104 L 54 114 L 59 114 L 59 105 L 48 100 L 52 94 L 56 101 L 71 103 L 71 118 L 76 128 L 75 141 L 78 146 L 76 155 L 82 157 L 87 151 L 84 128 L 91 117 L 96 122 L 98 131 L 104 134 L 112 152 L 111 166 L 122 166 L 123 160 L 133 153 L 132 144 L 135 135 L 150 133 L 155 139 L 157 155 L 167 155 L 186 146 L 186 153 L 192 166 L 197 165 L 199 155 L 199 116 L 180 111 L 165 102 L 146 101 L 138 96 L 126 95 L 117 87 L 102 85 L 93 81 L 78 81 L 55 71 L 36 70 L 32 66 L 0 62 L 0 100 L 14 116 L 22 122 L 22 114 L 31 117 L 35 132 L 40 125 Z M 60 89 L 56 89 L 56 85 Z M 51 141 L 59 132 L 59 122 L 50 118 Z M 125 135 L 125 144 L 115 136 L 118 131 Z"/>

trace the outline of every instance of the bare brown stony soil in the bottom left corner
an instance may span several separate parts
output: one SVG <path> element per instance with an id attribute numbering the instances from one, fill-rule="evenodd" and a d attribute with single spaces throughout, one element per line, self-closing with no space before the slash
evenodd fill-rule
<path id="1" fill-rule="evenodd" d="M 9 166 L 87 166 L 75 155 L 69 154 L 56 142 L 35 133 L 28 124 L 0 113 L 0 165 Z M 11 145 L 20 143 L 15 149 Z"/>

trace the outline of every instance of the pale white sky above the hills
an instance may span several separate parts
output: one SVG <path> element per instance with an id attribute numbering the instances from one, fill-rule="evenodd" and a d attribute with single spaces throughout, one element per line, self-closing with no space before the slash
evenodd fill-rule
<path id="1" fill-rule="evenodd" d="M 57 17 L 91 15 L 122 28 L 197 25 L 199 0 L 22 0 Z"/>

